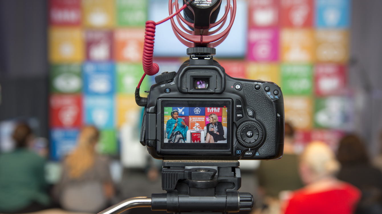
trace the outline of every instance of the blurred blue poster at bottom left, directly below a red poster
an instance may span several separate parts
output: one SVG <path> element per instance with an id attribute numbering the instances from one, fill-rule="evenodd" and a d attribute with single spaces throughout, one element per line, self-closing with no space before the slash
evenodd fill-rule
<path id="1" fill-rule="evenodd" d="M 76 148 L 78 129 L 50 130 L 50 158 L 61 160 L 68 152 Z"/>

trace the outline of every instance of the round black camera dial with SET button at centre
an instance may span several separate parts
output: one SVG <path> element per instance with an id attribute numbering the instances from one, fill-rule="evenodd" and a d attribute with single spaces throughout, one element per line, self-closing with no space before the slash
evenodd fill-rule
<path id="1" fill-rule="evenodd" d="M 236 139 L 246 148 L 258 146 L 264 137 L 261 125 L 253 120 L 241 123 L 236 130 Z"/>

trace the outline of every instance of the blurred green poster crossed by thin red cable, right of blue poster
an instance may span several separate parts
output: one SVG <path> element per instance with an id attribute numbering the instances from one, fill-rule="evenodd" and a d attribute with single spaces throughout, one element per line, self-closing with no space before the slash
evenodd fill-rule
<path id="1" fill-rule="evenodd" d="M 118 63 L 116 67 L 117 71 L 117 92 L 123 94 L 134 94 L 135 89 L 138 86 L 139 80 L 143 75 L 142 64 L 136 63 Z M 150 90 L 151 76 L 144 78 L 141 84 L 141 96 L 147 96 L 144 91 Z"/>

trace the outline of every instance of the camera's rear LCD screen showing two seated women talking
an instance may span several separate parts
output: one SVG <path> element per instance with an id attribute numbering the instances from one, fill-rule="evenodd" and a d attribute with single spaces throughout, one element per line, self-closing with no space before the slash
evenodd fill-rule
<path id="1" fill-rule="evenodd" d="M 227 149 L 231 143 L 231 102 L 162 101 L 164 149 Z"/>

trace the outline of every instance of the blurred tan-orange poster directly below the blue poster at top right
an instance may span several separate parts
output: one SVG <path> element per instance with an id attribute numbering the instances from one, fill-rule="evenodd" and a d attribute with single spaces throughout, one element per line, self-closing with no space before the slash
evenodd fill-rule
<path id="1" fill-rule="evenodd" d="M 349 58 L 349 32 L 346 30 L 316 30 L 318 62 L 345 63 Z"/>

